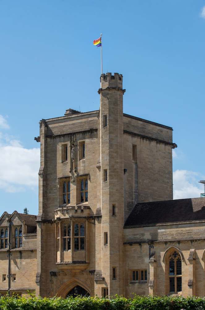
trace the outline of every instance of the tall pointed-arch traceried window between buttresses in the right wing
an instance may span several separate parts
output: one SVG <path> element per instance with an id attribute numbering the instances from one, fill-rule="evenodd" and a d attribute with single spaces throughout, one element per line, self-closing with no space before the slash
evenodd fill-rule
<path id="1" fill-rule="evenodd" d="M 169 291 L 182 291 L 182 259 L 176 251 L 169 257 Z"/>

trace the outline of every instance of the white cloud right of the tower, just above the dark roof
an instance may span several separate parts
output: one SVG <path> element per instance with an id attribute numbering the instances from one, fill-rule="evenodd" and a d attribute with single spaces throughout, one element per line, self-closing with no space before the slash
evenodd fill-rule
<path id="1" fill-rule="evenodd" d="M 176 170 L 173 172 L 173 199 L 200 197 L 204 192 L 203 184 L 198 183 L 205 177 L 198 172 Z"/>

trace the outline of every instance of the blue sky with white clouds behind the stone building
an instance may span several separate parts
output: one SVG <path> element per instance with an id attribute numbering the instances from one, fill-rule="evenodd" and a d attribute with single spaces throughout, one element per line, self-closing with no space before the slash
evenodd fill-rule
<path id="1" fill-rule="evenodd" d="M 38 210 L 39 120 L 99 108 L 103 71 L 123 75 L 124 113 L 173 127 L 174 198 L 204 172 L 205 1 L 0 0 L 1 212 Z M 204 8 L 204 9 L 203 9 Z"/>

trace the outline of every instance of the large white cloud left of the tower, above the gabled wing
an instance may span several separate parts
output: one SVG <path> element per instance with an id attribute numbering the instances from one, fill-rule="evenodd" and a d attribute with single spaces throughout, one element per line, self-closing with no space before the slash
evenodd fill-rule
<path id="1" fill-rule="evenodd" d="M 0 188 L 9 193 L 38 186 L 40 148 L 23 148 L 19 140 L 0 135 Z"/>

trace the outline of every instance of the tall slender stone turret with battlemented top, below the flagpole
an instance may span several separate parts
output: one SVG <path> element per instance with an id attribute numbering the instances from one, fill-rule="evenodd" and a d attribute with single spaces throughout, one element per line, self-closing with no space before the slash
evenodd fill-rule
<path id="1" fill-rule="evenodd" d="M 102 275 L 109 294 L 123 290 L 123 94 L 122 75 L 100 77 Z M 115 281 L 112 281 L 112 280 Z M 111 283 L 110 283 L 111 282 Z"/>

